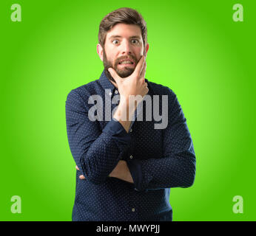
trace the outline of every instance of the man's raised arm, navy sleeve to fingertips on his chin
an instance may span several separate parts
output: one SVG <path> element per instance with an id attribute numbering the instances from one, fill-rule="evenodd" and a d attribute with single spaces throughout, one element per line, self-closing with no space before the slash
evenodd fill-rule
<path id="1" fill-rule="evenodd" d="M 127 102 L 129 95 L 138 94 L 144 97 L 148 92 L 144 79 L 146 70 L 144 56 L 126 80 L 119 77 L 114 69 L 109 70 L 115 78 L 115 86 L 118 87 L 121 100 L 113 119 L 107 123 L 102 133 L 98 122 L 90 121 L 89 109 L 84 108 L 87 104 L 78 93 L 71 91 L 66 102 L 67 136 L 70 150 L 83 176 L 95 184 L 104 182 L 105 178 L 110 175 L 131 140 L 127 132 L 132 120 L 127 120 L 127 117 L 132 117 L 136 105 L 133 108 L 129 107 L 129 102 Z M 131 114 L 124 112 L 127 110 L 132 111 Z"/>

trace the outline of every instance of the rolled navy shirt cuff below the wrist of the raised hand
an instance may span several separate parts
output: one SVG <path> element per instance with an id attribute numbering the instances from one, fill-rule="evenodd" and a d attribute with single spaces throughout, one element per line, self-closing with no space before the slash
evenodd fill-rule
<path id="1" fill-rule="evenodd" d="M 121 125 L 115 118 L 112 118 L 110 122 L 107 123 L 102 132 L 109 133 L 113 139 L 124 144 L 129 144 L 132 139 L 130 134 L 124 129 L 123 125 Z"/>

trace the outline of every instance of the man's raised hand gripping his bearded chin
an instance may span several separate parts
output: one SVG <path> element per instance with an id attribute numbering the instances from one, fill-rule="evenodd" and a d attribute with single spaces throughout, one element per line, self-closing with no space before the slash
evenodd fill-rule
<path id="1" fill-rule="evenodd" d="M 113 83 L 120 93 L 120 103 L 122 103 L 122 101 L 127 103 L 129 101 L 129 95 L 141 95 L 143 98 L 148 93 L 149 89 L 145 82 L 146 59 L 144 55 L 138 61 L 134 72 L 126 78 L 119 77 L 112 68 L 109 68 L 108 70 L 114 78 L 115 83 Z"/>

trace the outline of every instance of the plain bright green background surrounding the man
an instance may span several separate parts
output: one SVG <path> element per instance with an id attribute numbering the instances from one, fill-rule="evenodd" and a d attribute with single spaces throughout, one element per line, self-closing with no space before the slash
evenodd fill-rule
<path id="1" fill-rule="evenodd" d="M 21 22 L 10 6 L 21 5 Z M 243 22 L 232 20 L 243 4 Z M 98 26 L 145 18 L 146 78 L 178 96 L 195 145 L 192 187 L 172 188 L 174 221 L 255 221 L 255 1 L 1 1 L 1 221 L 71 221 L 75 162 L 65 101 L 98 79 Z M 21 214 L 10 198 L 21 196 Z M 243 214 L 232 201 L 243 197 Z"/>

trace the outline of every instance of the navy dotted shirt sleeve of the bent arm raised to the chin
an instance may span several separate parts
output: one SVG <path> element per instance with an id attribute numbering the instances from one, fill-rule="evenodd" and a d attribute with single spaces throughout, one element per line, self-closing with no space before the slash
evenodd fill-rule
<path id="1" fill-rule="evenodd" d="M 67 137 L 78 168 L 94 184 L 101 184 L 127 150 L 131 137 L 120 122 L 111 119 L 103 131 L 88 117 L 87 104 L 75 90 L 66 101 Z"/>

